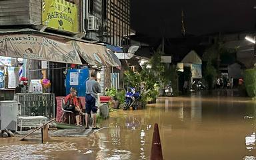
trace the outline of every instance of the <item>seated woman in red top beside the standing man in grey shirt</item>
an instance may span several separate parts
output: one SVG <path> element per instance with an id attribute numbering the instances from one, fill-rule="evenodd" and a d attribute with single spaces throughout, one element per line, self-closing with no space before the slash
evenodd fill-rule
<path id="1" fill-rule="evenodd" d="M 77 100 L 77 91 L 74 88 L 70 89 L 70 94 L 65 97 L 65 106 L 64 109 L 67 111 L 72 111 L 75 113 L 75 121 L 77 122 L 77 126 L 82 126 L 79 124 L 79 120 L 81 119 L 80 115 L 85 115 L 79 107 L 79 102 Z"/>

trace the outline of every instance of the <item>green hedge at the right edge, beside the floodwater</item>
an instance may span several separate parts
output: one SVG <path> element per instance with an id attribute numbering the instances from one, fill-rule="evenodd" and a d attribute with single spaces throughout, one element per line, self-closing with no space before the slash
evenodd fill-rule
<path id="1" fill-rule="evenodd" d="M 245 88 L 249 97 L 256 96 L 256 69 L 245 70 Z"/>

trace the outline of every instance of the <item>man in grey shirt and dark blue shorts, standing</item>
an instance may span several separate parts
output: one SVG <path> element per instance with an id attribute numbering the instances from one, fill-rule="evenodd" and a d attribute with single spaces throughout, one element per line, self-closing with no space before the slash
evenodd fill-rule
<path id="1" fill-rule="evenodd" d="M 95 71 L 91 72 L 91 78 L 86 81 L 86 95 L 85 95 L 85 129 L 89 129 L 88 115 L 93 113 L 93 129 L 99 129 L 96 125 L 96 113 L 98 108 L 98 95 L 101 93 L 101 86 L 97 82 L 97 74 Z"/>

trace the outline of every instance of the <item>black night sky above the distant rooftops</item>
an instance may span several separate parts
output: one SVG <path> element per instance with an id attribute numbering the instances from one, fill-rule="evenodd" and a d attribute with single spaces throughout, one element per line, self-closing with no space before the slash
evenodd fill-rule
<path id="1" fill-rule="evenodd" d="M 131 26 L 137 33 L 181 37 L 181 9 L 192 35 L 253 31 L 256 0 L 131 0 Z"/>

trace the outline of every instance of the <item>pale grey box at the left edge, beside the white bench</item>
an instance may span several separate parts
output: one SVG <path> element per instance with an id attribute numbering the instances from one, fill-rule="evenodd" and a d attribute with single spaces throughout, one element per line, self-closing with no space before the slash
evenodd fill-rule
<path id="1" fill-rule="evenodd" d="M 0 129 L 15 131 L 17 124 L 17 101 L 0 101 Z"/>

